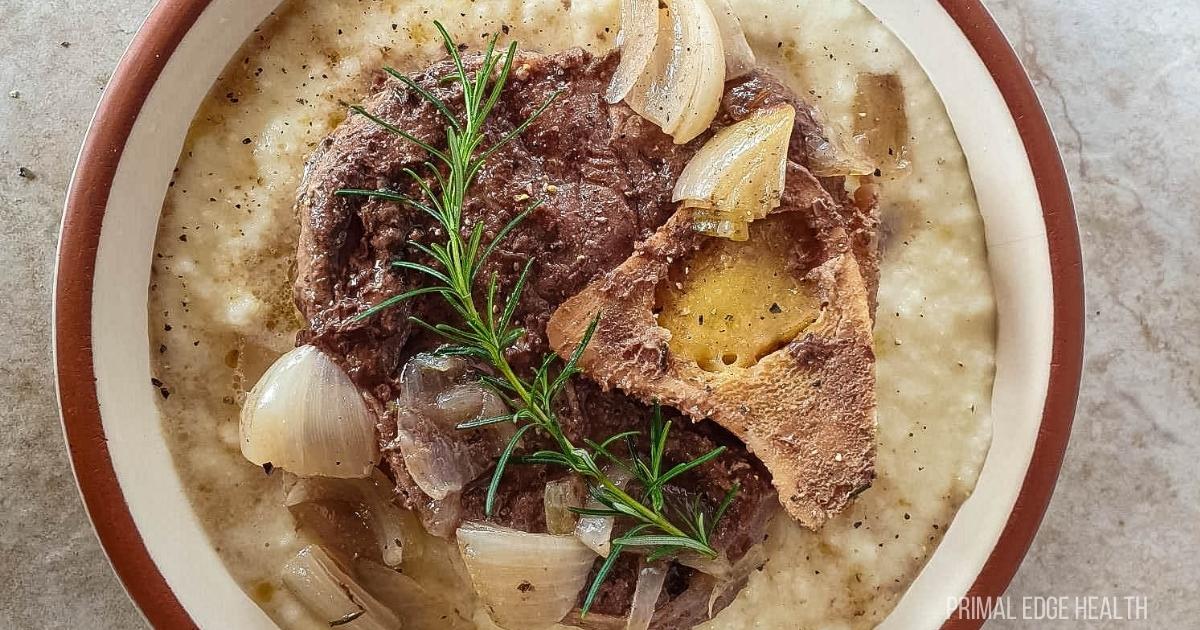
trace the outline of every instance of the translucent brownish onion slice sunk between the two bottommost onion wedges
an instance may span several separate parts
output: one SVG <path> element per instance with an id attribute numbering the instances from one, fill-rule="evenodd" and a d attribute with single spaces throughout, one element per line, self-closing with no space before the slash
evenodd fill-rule
<path id="1" fill-rule="evenodd" d="M 404 630 L 473 630 L 455 605 L 436 589 L 370 560 L 354 563 L 358 582 L 403 619 Z"/>

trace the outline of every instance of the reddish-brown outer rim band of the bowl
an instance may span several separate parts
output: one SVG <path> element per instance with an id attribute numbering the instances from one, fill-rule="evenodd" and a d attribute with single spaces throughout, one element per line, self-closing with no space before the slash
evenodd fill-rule
<path id="1" fill-rule="evenodd" d="M 196 628 L 155 565 L 126 505 L 106 442 L 92 355 L 92 296 L 101 226 L 126 140 L 150 90 L 212 0 L 160 0 L 113 73 L 67 192 L 55 272 L 54 362 L 62 431 L 85 510 L 118 578 L 156 628 Z M 1030 160 L 1050 254 L 1054 337 L 1033 456 L 1000 540 L 967 598 L 1003 594 L 1054 492 L 1070 436 L 1084 355 L 1084 275 L 1070 187 L 1037 94 L 1016 53 L 979 0 L 938 0 L 998 85 Z M 974 630 L 961 611 L 943 630 Z"/>

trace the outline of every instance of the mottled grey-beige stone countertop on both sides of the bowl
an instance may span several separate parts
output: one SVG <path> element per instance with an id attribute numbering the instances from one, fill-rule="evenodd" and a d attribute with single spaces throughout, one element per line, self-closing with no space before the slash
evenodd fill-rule
<path id="1" fill-rule="evenodd" d="M 0 628 L 140 628 L 67 466 L 54 402 L 54 246 L 96 101 L 151 0 L 0 6 Z M 1200 618 L 1200 4 L 986 0 L 1062 145 L 1084 239 L 1087 356 L 1045 522 L 1009 589 L 1145 596 Z"/>

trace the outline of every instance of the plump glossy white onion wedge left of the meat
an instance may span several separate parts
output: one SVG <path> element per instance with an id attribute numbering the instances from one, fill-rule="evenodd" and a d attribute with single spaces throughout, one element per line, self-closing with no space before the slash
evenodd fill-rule
<path id="1" fill-rule="evenodd" d="M 379 444 L 350 377 L 301 346 L 280 356 L 246 397 L 241 454 L 298 475 L 361 478 L 379 461 Z"/>

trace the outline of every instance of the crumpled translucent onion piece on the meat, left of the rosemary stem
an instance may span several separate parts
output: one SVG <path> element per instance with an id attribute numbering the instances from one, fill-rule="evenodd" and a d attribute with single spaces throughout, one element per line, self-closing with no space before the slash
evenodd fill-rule
<path id="1" fill-rule="evenodd" d="M 403 403 L 396 409 L 396 442 L 404 467 L 426 496 L 444 500 L 491 468 L 515 431 L 511 422 L 457 428 L 464 420 L 508 413 L 496 394 L 476 383 L 455 384 L 466 372 L 460 359 L 421 354 L 404 366 Z"/>

